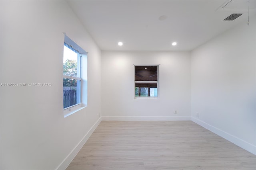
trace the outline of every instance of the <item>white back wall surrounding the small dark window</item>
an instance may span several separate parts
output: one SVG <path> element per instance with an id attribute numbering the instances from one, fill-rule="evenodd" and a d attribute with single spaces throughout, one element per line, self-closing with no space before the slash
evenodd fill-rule
<path id="1" fill-rule="evenodd" d="M 134 64 L 160 64 L 158 99 L 134 99 Z M 102 51 L 102 116 L 190 120 L 190 53 Z"/>

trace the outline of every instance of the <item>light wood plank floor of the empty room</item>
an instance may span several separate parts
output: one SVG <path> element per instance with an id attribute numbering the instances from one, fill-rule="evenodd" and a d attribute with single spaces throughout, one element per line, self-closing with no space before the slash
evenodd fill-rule
<path id="1" fill-rule="evenodd" d="M 192 121 L 102 121 L 67 170 L 256 170 L 256 155 Z"/>

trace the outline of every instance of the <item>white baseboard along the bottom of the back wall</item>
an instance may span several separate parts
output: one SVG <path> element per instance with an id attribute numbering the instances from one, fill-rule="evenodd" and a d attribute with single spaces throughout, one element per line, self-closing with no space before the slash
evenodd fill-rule
<path id="1" fill-rule="evenodd" d="M 191 121 L 191 116 L 102 116 L 103 121 Z"/>

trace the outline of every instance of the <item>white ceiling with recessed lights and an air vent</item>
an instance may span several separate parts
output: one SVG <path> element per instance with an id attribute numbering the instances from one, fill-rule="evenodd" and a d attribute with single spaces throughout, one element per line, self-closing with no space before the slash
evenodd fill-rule
<path id="1" fill-rule="evenodd" d="M 250 18 L 256 15 L 256 0 L 70 0 L 68 4 L 103 51 L 191 51 L 238 23 L 247 25 L 248 6 Z M 223 21 L 234 12 L 243 15 Z"/>

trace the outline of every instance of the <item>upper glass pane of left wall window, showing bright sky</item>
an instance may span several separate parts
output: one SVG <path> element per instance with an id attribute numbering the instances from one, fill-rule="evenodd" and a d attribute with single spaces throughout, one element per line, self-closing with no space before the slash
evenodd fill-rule
<path id="1" fill-rule="evenodd" d="M 78 74 L 79 57 L 80 57 L 80 53 L 76 52 L 70 46 L 64 44 L 63 75 L 80 77 L 80 75 Z"/>

